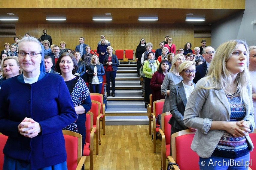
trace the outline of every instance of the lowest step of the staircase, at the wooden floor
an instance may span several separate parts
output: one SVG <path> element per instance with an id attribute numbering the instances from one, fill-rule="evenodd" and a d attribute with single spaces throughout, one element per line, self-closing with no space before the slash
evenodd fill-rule
<path id="1" fill-rule="evenodd" d="M 148 116 L 106 116 L 105 125 L 148 125 Z"/>

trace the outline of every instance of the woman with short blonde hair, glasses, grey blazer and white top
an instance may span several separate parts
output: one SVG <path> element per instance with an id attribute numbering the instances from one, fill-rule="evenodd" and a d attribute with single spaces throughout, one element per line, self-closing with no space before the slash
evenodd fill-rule
<path id="1" fill-rule="evenodd" d="M 193 61 L 184 61 L 178 67 L 179 75 L 182 77 L 182 81 L 175 84 L 170 88 L 169 99 L 170 101 L 170 112 L 172 118 L 169 120 L 169 124 L 172 125 L 171 135 L 181 130 L 190 129 L 195 132 L 196 129 L 186 127 L 183 123 L 183 116 L 187 99 L 193 91 L 195 84 L 193 79 L 195 78 L 196 63 Z"/>

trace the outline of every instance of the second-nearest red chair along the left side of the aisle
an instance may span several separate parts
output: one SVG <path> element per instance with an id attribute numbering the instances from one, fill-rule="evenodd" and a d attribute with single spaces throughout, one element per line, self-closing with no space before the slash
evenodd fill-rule
<path id="1" fill-rule="evenodd" d="M 96 128 L 93 128 L 93 113 L 86 113 L 86 136 L 84 145 L 84 156 L 90 156 L 90 170 L 93 170 L 93 135 Z M 85 165 L 84 165 L 85 166 Z"/>

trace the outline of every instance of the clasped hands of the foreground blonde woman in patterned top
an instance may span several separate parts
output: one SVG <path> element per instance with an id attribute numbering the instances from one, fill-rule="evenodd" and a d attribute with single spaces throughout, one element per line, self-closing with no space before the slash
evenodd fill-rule
<path id="1" fill-rule="evenodd" d="M 229 133 L 231 133 L 235 137 L 243 137 L 248 136 L 250 130 L 249 123 L 245 120 L 241 120 L 239 122 L 229 122 L 230 128 L 227 129 Z"/>

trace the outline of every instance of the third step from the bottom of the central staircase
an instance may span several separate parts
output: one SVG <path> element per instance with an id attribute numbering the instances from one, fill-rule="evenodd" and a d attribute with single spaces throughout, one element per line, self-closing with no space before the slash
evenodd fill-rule
<path id="1" fill-rule="evenodd" d="M 145 109 L 144 101 L 108 101 L 108 109 Z M 108 109 L 106 111 L 108 111 Z"/>

